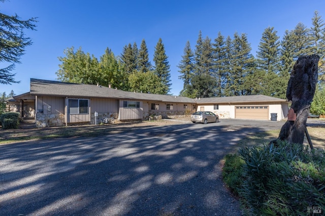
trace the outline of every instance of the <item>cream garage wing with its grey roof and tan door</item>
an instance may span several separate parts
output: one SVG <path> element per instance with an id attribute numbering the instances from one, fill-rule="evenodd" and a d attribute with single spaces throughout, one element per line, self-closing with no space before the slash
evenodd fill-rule
<path id="1" fill-rule="evenodd" d="M 281 120 L 287 117 L 289 109 L 287 100 L 265 95 L 201 98 L 196 102 L 198 110 L 211 111 L 219 118 L 271 120 L 275 113 L 276 120 Z"/>

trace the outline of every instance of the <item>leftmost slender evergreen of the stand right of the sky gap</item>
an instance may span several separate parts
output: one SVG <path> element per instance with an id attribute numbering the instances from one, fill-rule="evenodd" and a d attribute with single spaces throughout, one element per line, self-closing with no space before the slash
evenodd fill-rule
<path id="1" fill-rule="evenodd" d="M 189 41 L 187 40 L 185 48 L 184 48 L 184 55 L 182 56 L 182 60 L 177 66 L 180 70 L 180 76 L 178 76 L 179 79 L 182 79 L 184 82 L 183 90 L 180 92 L 181 96 L 184 97 L 195 97 L 192 95 L 191 92 L 189 92 L 189 85 L 191 83 L 191 77 L 193 76 L 193 70 L 194 70 L 194 63 L 193 63 L 194 54 L 192 52 L 191 46 Z"/>

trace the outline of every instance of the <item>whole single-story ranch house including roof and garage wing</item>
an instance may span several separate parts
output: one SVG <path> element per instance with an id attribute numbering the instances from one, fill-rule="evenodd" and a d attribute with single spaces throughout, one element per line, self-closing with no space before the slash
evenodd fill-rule
<path id="1" fill-rule="evenodd" d="M 8 105 L 16 106 L 23 118 L 35 118 L 38 127 L 177 118 L 197 110 L 212 111 L 219 118 L 263 120 L 277 113 L 280 120 L 288 112 L 288 101 L 263 95 L 191 99 L 34 78 L 29 93 L 13 98 Z"/>

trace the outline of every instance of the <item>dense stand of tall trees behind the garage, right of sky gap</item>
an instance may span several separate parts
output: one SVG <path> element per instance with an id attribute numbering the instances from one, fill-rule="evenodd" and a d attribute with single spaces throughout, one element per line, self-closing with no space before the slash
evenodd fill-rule
<path id="1" fill-rule="evenodd" d="M 218 32 L 212 43 L 199 31 L 194 53 L 187 42 L 178 65 L 184 82 L 180 94 L 192 98 L 203 97 L 202 92 L 209 92 L 204 97 L 263 94 L 285 99 L 290 72 L 299 56 L 318 54 L 319 81 L 325 81 L 324 51 L 325 28 L 317 11 L 311 28 L 298 23 L 282 39 L 274 27 L 267 27 L 255 57 L 245 33 L 235 32 L 231 38 Z M 201 74 L 205 77 L 196 77 Z"/>

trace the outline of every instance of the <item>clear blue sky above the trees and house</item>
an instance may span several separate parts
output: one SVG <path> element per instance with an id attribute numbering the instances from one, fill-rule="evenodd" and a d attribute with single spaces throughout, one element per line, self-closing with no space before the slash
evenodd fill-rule
<path id="1" fill-rule="evenodd" d="M 146 40 L 151 64 L 154 47 L 161 38 L 171 66 L 171 94 L 179 95 L 183 81 L 177 65 L 188 40 L 194 51 L 199 31 L 214 39 L 220 31 L 233 37 L 246 33 L 255 56 L 259 40 L 267 27 L 274 27 L 282 38 L 302 22 L 311 27 L 315 11 L 325 20 L 323 0 L 273 1 L 69 1 L 10 0 L 0 3 L 0 12 L 15 13 L 21 19 L 38 17 L 37 31 L 25 31 L 33 44 L 27 47 L 13 73 L 19 84 L 0 84 L 0 93 L 16 95 L 29 92 L 30 78 L 56 80 L 58 57 L 67 48 L 79 47 L 85 53 L 100 58 L 110 48 L 120 55 L 125 45 L 134 42 L 140 48 Z"/>

